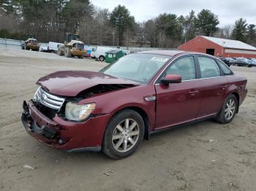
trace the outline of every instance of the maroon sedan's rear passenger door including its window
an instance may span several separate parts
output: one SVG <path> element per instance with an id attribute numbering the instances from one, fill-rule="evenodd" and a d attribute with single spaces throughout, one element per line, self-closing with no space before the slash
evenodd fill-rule
<path id="1" fill-rule="evenodd" d="M 198 111 L 198 118 L 217 114 L 222 107 L 227 90 L 227 78 L 214 58 L 197 56 L 200 68 L 200 92 L 202 98 Z"/>

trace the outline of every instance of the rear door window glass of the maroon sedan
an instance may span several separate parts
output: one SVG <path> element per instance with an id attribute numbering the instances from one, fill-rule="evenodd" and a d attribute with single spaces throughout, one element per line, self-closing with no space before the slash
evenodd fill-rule
<path id="1" fill-rule="evenodd" d="M 217 63 L 212 58 L 198 57 L 201 77 L 220 77 L 220 69 Z"/>

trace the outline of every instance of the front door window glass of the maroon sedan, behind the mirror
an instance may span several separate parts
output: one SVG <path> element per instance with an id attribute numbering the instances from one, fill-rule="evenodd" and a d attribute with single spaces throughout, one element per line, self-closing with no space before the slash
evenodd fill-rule
<path id="1" fill-rule="evenodd" d="M 181 75 L 182 81 L 195 79 L 195 62 L 193 56 L 187 56 L 175 61 L 166 71 L 166 74 Z"/>

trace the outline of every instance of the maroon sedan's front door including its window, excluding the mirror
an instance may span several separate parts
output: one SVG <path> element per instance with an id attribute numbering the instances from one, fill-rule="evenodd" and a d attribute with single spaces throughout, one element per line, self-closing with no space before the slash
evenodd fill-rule
<path id="1" fill-rule="evenodd" d="M 189 55 L 178 58 L 163 72 L 162 77 L 166 74 L 181 75 L 182 82 L 163 85 L 159 81 L 155 85 L 157 92 L 156 130 L 196 119 L 200 91 L 195 68 L 195 58 Z"/>

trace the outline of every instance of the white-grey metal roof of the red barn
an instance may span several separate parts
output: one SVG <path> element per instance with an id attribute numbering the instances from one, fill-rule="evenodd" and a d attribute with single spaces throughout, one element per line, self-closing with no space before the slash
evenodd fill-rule
<path id="1" fill-rule="evenodd" d="M 208 39 L 211 42 L 219 44 L 219 46 L 222 46 L 222 47 L 241 49 L 241 50 L 256 50 L 256 47 L 252 47 L 251 45 L 238 40 L 220 39 L 220 38 L 215 38 L 210 36 L 202 36 L 202 37 L 205 39 Z"/>

